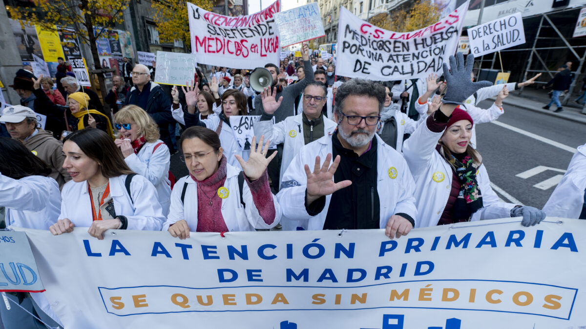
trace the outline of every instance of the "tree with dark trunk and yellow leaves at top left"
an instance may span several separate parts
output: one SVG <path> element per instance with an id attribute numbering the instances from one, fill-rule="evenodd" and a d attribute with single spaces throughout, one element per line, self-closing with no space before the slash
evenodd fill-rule
<path id="1" fill-rule="evenodd" d="M 33 0 L 30 8 L 7 7 L 12 19 L 25 21 L 46 30 L 56 25 L 73 26 L 81 41 L 88 44 L 96 67 L 100 91 L 105 98 L 107 89 L 96 40 L 107 35 L 106 26 L 122 22 L 122 12 L 130 0 Z M 106 36 L 107 37 L 107 36 Z"/>

